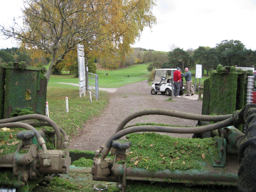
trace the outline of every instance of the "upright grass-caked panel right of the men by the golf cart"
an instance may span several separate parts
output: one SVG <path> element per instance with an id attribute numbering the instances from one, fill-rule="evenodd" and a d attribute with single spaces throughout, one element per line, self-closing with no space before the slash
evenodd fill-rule
<path id="1" fill-rule="evenodd" d="M 230 72 L 226 73 L 225 69 Z M 204 81 L 202 114 L 232 114 L 242 109 L 246 105 L 246 80 L 250 75 L 251 70 L 236 70 L 234 66 L 223 68 L 219 64 Z"/>

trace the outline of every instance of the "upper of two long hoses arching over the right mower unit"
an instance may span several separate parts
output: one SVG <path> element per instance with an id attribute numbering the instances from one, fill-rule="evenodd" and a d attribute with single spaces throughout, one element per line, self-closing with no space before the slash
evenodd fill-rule
<path id="1" fill-rule="evenodd" d="M 121 131 L 124 126 L 133 120 L 134 118 L 144 116 L 144 115 L 166 115 L 166 116 L 172 116 L 172 117 L 179 117 L 184 119 L 191 119 L 191 120 L 200 120 L 200 121 L 223 121 L 230 117 L 232 117 L 232 114 L 229 115 L 216 115 L 216 116 L 209 116 L 209 115 L 197 115 L 197 114 L 191 114 L 191 113 L 183 113 L 178 111 L 172 111 L 172 110 L 165 110 L 165 109 L 146 109 L 142 111 L 135 112 L 133 114 L 130 114 L 128 117 L 126 117 L 122 122 L 118 125 L 116 132 Z"/>

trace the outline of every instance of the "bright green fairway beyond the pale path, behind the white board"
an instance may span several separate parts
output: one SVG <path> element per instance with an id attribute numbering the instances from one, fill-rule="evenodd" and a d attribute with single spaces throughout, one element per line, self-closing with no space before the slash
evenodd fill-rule
<path id="1" fill-rule="evenodd" d="M 149 78 L 147 70 L 148 63 L 129 66 L 127 68 L 117 70 L 98 70 L 99 87 L 102 88 L 118 88 L 126 84 L 140 82 Z M 108 73 L 108 76 L 104 75 Z M 129 75 L 129 77 L 128 77 Z M 76 83 L 79 84 L 75 75 L 62 74 L 51 75 L 48 86 L 57 86 L 55 82 Z"/>

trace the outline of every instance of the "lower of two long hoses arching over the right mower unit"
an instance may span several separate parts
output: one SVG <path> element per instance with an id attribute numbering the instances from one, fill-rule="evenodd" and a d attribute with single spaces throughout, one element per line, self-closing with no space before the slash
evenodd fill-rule
<path id="1" fill-rule="evenodd" d="M 112 141 L 117 140 L 121 138 L 122 136 L 125 136 L 130 133 L 135 132 L 144 132 L 144 131 L 150 131 L 150 132 L 166 132 L 166 133 L 181 133 L 181 134 L 190 134 L 190 133 L 203 133 L 208 131 L 217 130 L 223 127 L 231 126 L 234 124 L 234 121 L 232 118 L 228 118 L 227 120 L 224 120 L 222 122 L 218 122 L 215 124 L 210 124 L 206 126 L 198 126 L 198 127 L 166 127 L 166 126 L 152 126 L 152 125 L 143 125 L 143 126 L 135 126 L 126 128 L 124 130 L 119 131 L 114 136 L 108 140 L 106 147 L 111 148 L 112 147 Z"/>

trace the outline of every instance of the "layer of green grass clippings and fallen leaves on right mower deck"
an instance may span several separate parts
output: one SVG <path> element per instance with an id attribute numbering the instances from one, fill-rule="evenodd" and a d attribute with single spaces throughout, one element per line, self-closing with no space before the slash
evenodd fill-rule
<path id="1" fill-rule="evenodd" d="M 129 134 L 126 138 L 132 142 L 132 153 L 125 160 L 127 167 L 144 168 L 150 172 L 166 169 L 200 170 L 212 164 L 209 148 L 214 158 L 219 158 L 214 138 L 172 138 L 156 133 Z"/>

